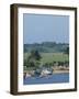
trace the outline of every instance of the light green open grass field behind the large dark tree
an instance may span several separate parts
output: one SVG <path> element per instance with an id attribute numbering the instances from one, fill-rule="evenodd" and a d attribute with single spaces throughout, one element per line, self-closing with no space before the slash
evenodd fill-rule
<path id="1" fill-rule="evenodd" d="M 24 59 L 30 55 L 30 53 L 24 53 Z M 69 62 L 69 57 L 64 53 L 41 53 L 43 63 L 53 63 L 53 62 Z"/>

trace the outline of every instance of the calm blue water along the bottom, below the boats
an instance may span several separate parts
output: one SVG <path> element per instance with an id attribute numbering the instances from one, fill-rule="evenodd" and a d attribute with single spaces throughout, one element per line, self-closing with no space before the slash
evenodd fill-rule
<path id="1" fill-rule="evenodd" d="M 47 77 L 30 77 L 24 79 L 24 85 L 69 82 L 69 74 L 53 74 Z"/>

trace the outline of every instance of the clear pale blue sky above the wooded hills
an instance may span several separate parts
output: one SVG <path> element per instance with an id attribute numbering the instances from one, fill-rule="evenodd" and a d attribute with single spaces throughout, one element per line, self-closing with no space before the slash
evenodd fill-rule
<path id="1" fill-rule="evenodd" d="M 23 14 L 23 43 L 69 43 L 69 16 L 53 14 Z"/>

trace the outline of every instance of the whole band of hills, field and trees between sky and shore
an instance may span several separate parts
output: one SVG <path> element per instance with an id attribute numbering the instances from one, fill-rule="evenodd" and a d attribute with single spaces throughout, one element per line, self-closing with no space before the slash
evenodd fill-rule
<path id="1" fill-rule="evenodd" d="M 69 66 L 68 44 L 55 42 L 24 44 L 24 68 L 53 66 Z"/>

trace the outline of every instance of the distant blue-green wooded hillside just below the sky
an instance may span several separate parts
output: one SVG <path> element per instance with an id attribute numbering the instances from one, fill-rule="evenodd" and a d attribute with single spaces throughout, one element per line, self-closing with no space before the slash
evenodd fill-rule
<path id="1" fill-rule="evenodd" d="M 24 53 L 31 52 L 32 50 L 37 50 L 41 53 L 59 53 L 65 52 L 67 47 L 69 47 L 67 43 L 55 42 L 24 44 Z"/>

